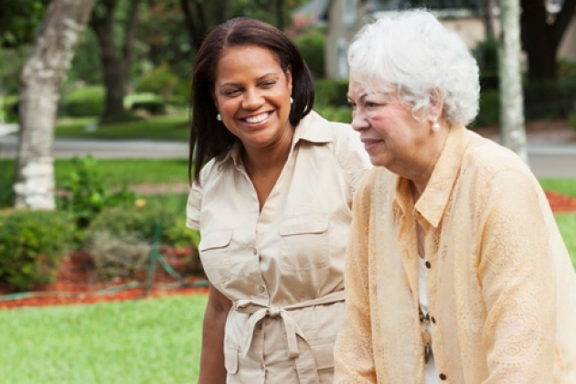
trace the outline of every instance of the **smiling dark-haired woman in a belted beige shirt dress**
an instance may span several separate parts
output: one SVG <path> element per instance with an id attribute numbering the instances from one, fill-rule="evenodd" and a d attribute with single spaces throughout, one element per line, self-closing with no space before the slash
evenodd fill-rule
<path id="1" fill-rule="evenodd" d="M 293 41 L 246 17 L 205 38 L 192 102 L 187 225 L 210 282 L 199 382 L 332 383 L 352 197 L 371 167 L 358 134 L 312 111 Z"/>

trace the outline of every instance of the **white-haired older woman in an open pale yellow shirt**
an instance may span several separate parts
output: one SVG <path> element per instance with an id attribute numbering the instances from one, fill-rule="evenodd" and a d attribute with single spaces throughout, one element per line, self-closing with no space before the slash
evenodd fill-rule
<path id="1" fill-rule="evenodd" d="M 478 69 L 432 14 L 360 31 L 354 202 L 336 383 L 576 383 L 576 277 L 538 180 L 466 130 Z"/>

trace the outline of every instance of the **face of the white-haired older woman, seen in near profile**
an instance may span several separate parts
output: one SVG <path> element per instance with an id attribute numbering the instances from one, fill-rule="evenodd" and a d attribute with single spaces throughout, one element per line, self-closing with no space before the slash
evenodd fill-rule
<path id="1" fill-rule="evenodd" d="M 354 80 L 350 80 L 348 100 L 353 108 L 352 127 L 360 133 L 373 165 L 402 175 L 425 160 L 421 149 L 430 139 L 430 123 L 417 121 L 411 109 L 393 95 L 365 91 Z"/>

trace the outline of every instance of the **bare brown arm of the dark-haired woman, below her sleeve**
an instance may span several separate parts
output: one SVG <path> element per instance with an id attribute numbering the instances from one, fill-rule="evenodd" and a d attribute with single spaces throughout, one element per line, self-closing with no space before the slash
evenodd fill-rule
<path id="1" fill-rule="evenodd" d="M 210 286 L 202 325 L 202 356 L 198 384 L 226 383 L 224 368 L 224 327 L 232 303 Z"/>

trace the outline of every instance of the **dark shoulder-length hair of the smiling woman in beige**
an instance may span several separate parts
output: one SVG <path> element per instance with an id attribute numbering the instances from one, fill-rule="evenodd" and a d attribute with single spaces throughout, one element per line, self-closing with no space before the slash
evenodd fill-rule
<path id="1" fill-rule="evenodd" d="M 188 152 L 188 180 L 199 182 L 200 169 L 210 158 L 225 155 L 238 138 L 216 120 L 213 100 L 216 68 L 226 48 L 258 46 L 272 51 L 285 72 L 292 70 L 293 104 L 290 123 L 295 127 L 312 111 L 314 82 L 299 49 L 278 28 L 250 17 L 237 17 L 210 31 L 197 51 L 192 71 L 192 123 Z"/>

